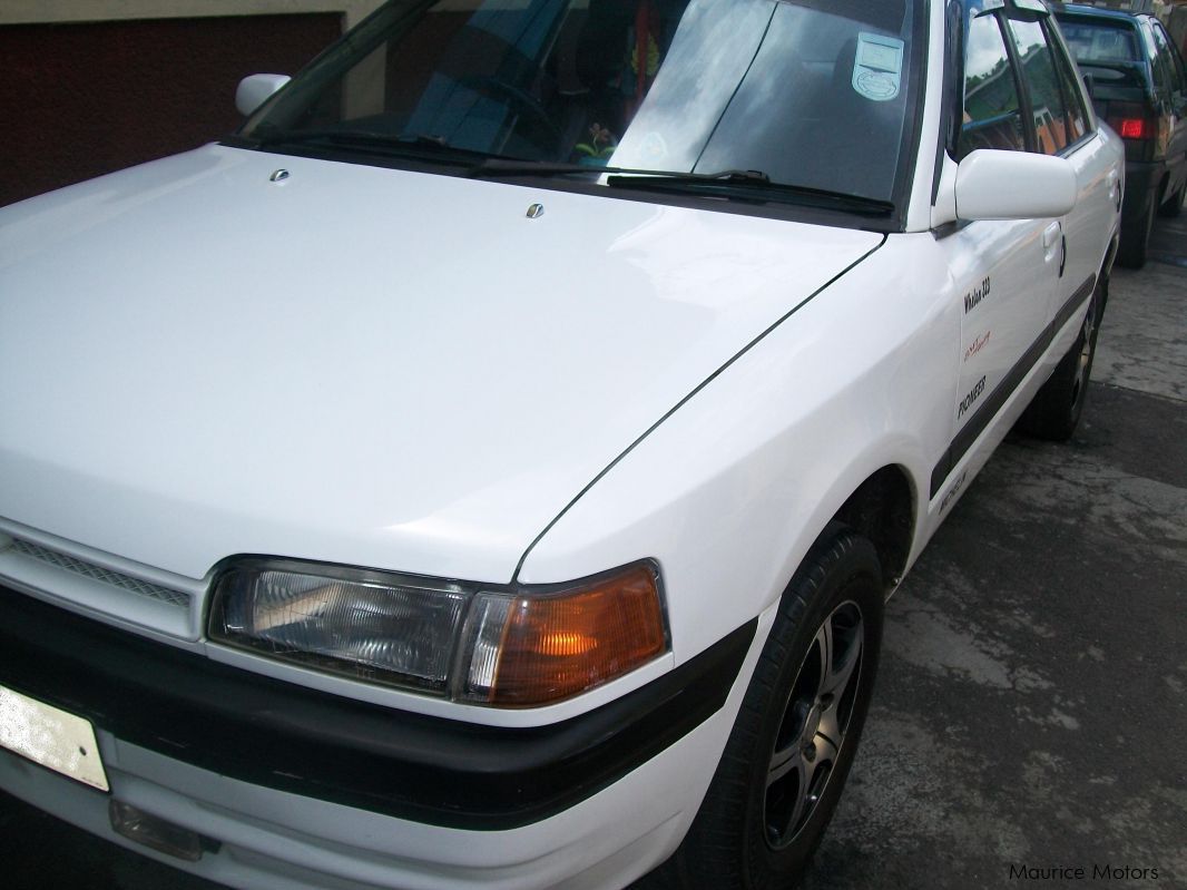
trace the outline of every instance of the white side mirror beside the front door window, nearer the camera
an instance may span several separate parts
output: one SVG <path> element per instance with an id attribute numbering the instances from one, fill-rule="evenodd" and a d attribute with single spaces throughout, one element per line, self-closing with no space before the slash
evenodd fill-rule
<path id="1" fill-rule="evenodd" d="M 979 148 L 957 167 L 960 220 L 1043 220 L 1075 206 L 1075 169 L 1066 158 Z"/>

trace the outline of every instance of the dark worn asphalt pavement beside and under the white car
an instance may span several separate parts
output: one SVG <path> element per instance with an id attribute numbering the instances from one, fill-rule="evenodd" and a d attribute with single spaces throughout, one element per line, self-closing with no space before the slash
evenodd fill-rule
<path id="1" fill-rule="evenodd" d="M 1093 377 L 1073 440 L 1011 434 L 890 600 L 804 890 L 1187 888 L 1187 215 L 1115 273 Z M 216 888 L 6 795 L 0 864 Z"/>

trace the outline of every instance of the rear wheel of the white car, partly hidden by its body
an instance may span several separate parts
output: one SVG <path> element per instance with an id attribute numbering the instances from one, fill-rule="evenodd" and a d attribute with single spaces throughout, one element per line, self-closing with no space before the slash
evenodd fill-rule
<path id="1" fill-rule="evenodd" d="M 1080 425 L 1092 377 L 1092 360 L 1097 355 L 1097 337 L 1100 333 L 1106 293 L 1107 284 L 1098 282 L 1084 312 L 1075 342 L 1020 418 L 1018 428 L 1028 436 L 1048 441 L 1067 441 Z"/>

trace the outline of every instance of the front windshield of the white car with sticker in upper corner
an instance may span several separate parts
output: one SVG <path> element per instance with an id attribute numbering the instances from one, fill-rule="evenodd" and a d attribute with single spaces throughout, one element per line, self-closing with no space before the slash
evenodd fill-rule
<path id="1" fill-rule="evenodd" d="M 726 173 L 889 202 L 919 80 L 919 2 L 393 0 L 240 135 L 364 158 L 496 158 L 504 172 Z"/>

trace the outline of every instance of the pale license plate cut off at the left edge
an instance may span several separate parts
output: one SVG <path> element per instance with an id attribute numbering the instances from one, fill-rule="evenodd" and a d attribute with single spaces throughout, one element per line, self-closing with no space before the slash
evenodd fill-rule
<path id="1" fill-rule="evenodd" d="M 0 746 L 91 788 L 110 790 L 90 723 L 4 686 Z"/>

